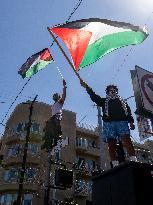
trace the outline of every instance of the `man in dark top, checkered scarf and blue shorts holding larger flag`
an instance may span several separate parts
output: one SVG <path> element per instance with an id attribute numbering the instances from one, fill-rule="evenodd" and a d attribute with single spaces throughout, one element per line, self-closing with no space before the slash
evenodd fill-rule
<path id="1" fill-rule="evenodd" d="M 130 129 L 135 129 L 134 119 L 128 104 L 118 95 L 118 88 L 109 85 L 106 88 L 106 97 L 96 95 L 86 82 L 80 79 L 81 85 L 86 89 L 90 98 L 103 112 L 103 140 L 108 143 L 109 155 L 113 167 L 119 164 L 117 160 L 116 145 L 117 141 L 122 141 L 127 149 L 130 160 L 137 161 L 135 150 L 130 139 Z M 128 126 L 130 123 L 130 129 Z"/>

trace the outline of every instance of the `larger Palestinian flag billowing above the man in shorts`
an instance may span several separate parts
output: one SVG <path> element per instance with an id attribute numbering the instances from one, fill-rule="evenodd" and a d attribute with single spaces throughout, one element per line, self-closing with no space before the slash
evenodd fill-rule
<path id="1" fill-rule="evenodd" d="M 140 44 L 147 31 L 129 23 L 107 19 L 82 19 L 49 29 L 67 45 L 76 70 L 88 66 L 123 46 Z"/>

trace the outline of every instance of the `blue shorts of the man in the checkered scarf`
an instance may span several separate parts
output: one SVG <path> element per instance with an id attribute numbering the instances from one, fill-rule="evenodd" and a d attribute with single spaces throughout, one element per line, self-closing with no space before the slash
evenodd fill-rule
<path id="1" fill-rule="evenodd" d="M 130 129 L 127 121 L 103 121 L 103 141 L 108 142 L 109 139 L 121 140 L 124 135 L 129 135 Z"/>

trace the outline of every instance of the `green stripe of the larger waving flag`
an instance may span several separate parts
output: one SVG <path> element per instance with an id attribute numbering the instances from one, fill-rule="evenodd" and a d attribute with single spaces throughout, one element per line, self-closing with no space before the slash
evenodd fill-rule
<path id="1" fill-rule="evenodd" d="M 79 68 L 94 63 L 117 48 L 139 44 L 145 38 L 145 34 L 140 31 L 126 31 L 103 36 L 88 46 Z"/>

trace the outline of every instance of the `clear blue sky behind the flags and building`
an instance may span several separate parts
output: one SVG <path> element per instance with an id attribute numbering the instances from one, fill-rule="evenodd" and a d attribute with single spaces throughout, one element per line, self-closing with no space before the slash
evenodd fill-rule
<path id="1" fill-rule="evenodd" d="M 47 27 L 64 23 L 77 0 L 5 0 L 0 6 L 0 121 L 4 118 L 8 108 L 15 99 L 27 79 L 22 79 L 17 71 L 32 54 L 49 47 L 52 37 Z M 105 56 L 95 64 L 80 71 L 80 76 L 93 88 L 105 96 L 105 87 L 116 84 L 119 94 L 123 98 L 133 95 L 130 70 L 135 65 L 153 71 L 153 1 L 152 0 L 83 0 L 71 20 L 82 18 L 107 18 L 124 21 L 134 25 L 146 24 L 149 37 L 140 45 L 121 48 Z M 61 41 L 64 50 L 67 48 Z M 132 48 L 132 51 L 131 51 Z M 67 98 L 65 109 L 77 113 L 77 121 L 84 118 L 84 123 L 97 125 L 97 110 L 86 91 L 80 86 L 73 70 L 65 60 L 58 47 L 54 44 L 50 51 L 56 63 L 50 64 L 46 69 L 32 77 L 28 85 L 16 101 L 15 105 L 25 100 L 34 98 L 52 103 L 51 96 L 54 92 L 62 91 L 62 79 L 57 71 L 60 68 L 67 81 Z M 132 112 L 135 111 L 135 100 L 128 101 Z M 8 115 L 9 117 L 9 115 Z M 5 119 L 4 123 L 6 122 Z M 0 133 L 4 128 L 0 125 Z M 132 136 L 138 139 L 137 128 L 132 131 Z"/>

